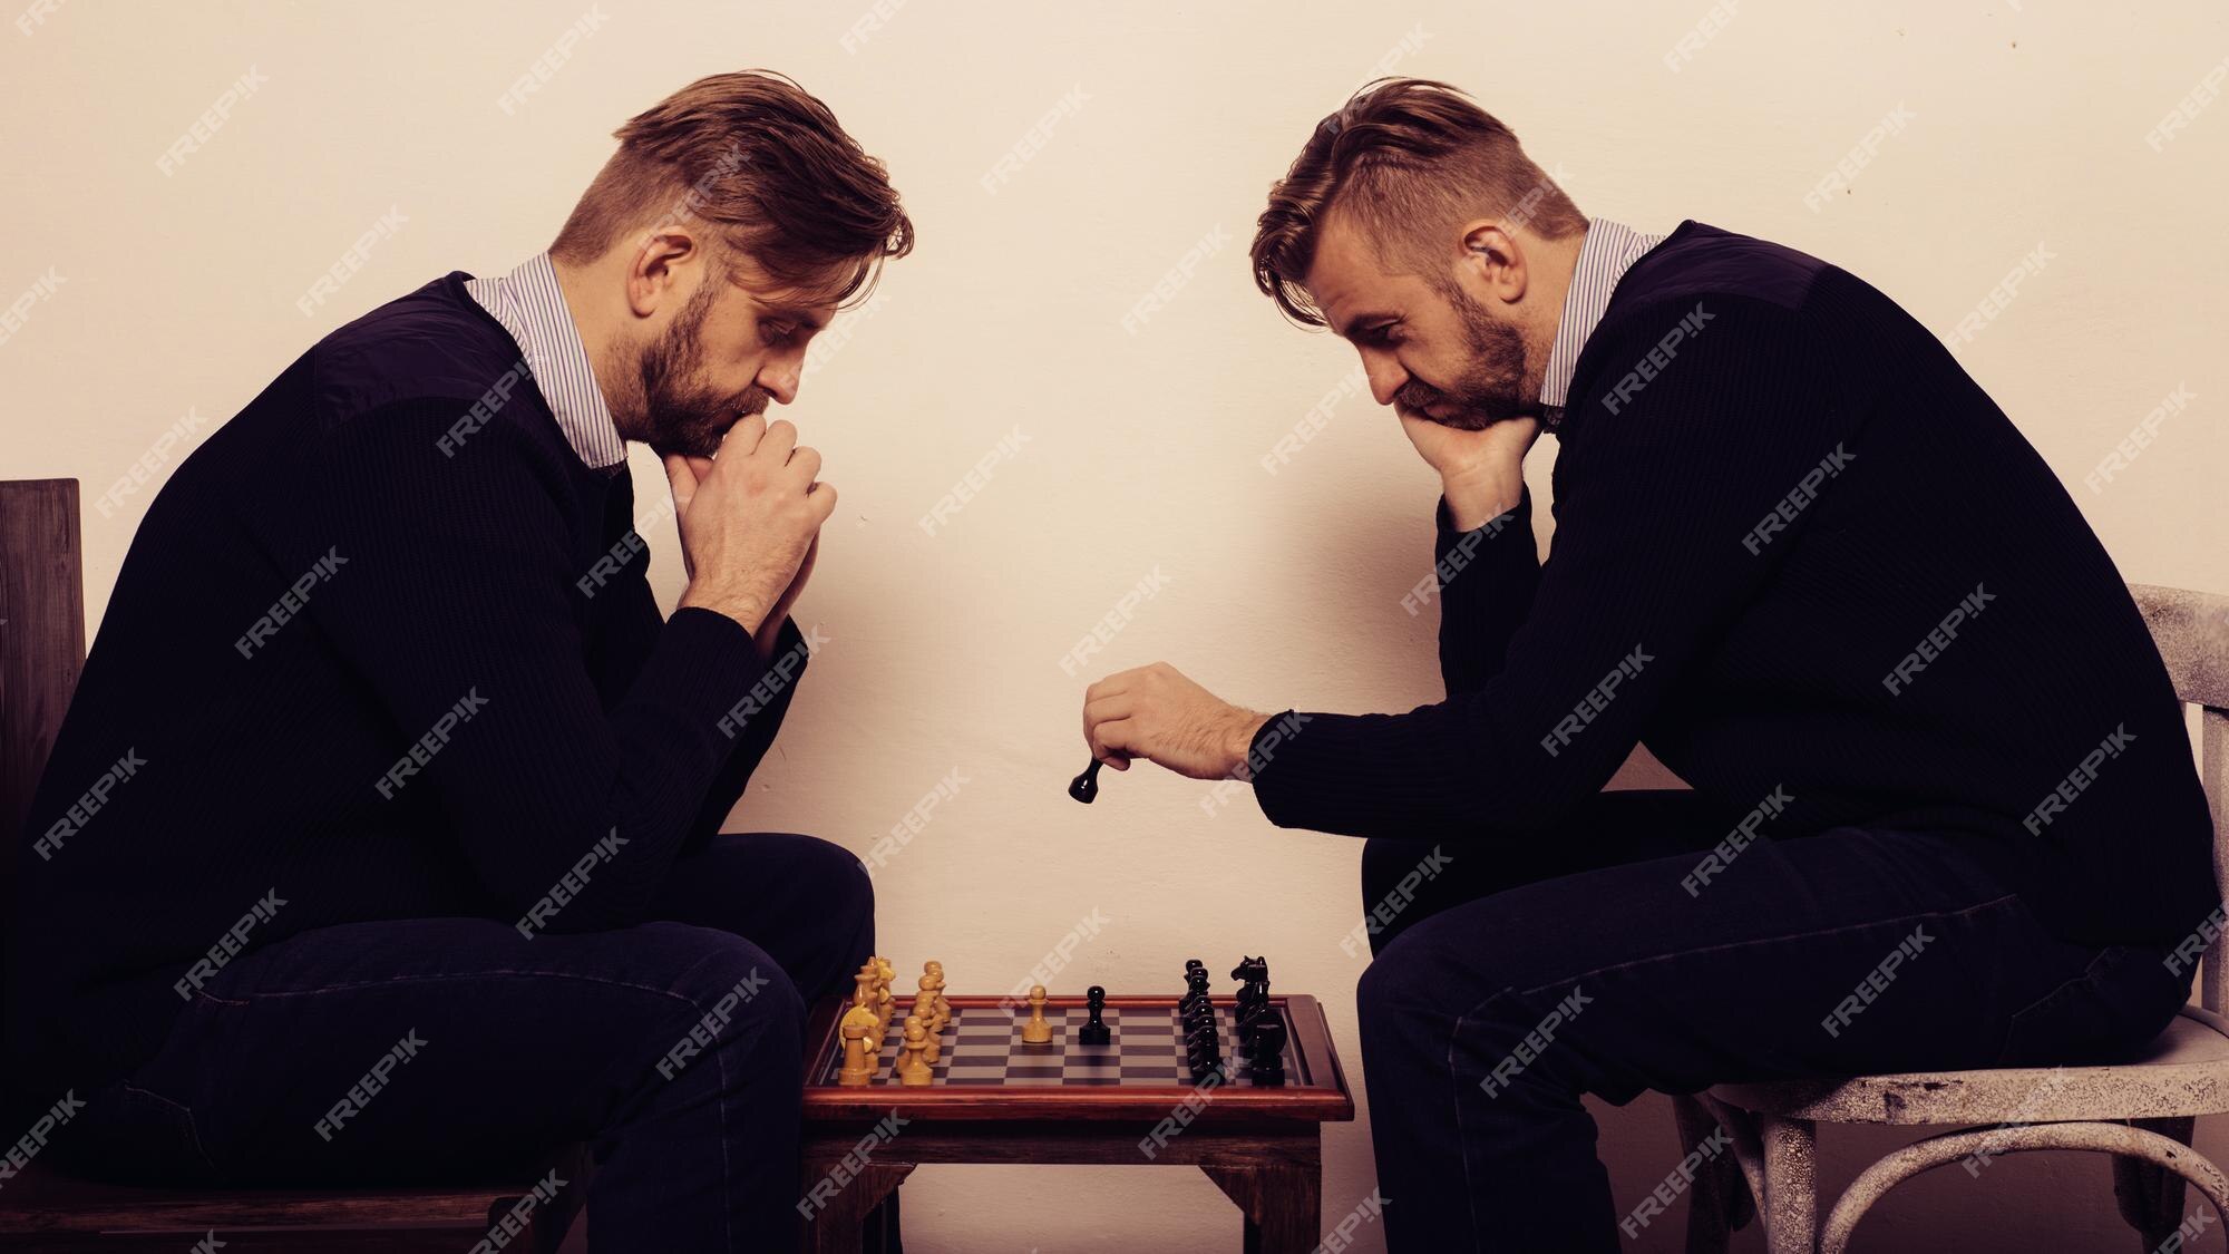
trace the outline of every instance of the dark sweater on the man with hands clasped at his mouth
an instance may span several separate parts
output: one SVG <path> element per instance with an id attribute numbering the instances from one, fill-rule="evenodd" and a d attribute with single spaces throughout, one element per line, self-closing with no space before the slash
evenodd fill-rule
<path id="1" fill-rule="evenodd" d="M 236 924 L 635 922 L 767 752 L 798 629 L 769 665 L 658 614 L 624 466 L 466 279 L 328 335 L 152 502 L 16 850 L 11 1096 L 152 1055 Z"/>

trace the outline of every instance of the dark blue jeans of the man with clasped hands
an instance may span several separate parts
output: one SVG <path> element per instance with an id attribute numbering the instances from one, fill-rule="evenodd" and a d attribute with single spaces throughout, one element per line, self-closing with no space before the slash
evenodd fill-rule
<path id="1" fill-rule="evenodd" d="M 533 939 L 348 924 L 245 953 L 56 1156 L 178 1183 L 490 1183 L 588 1140 L 600 1254 L 791 1250 L 802 1006 L 874 951 L 867 872 L 811 837 L 722 835 L 653 917 Z"/>

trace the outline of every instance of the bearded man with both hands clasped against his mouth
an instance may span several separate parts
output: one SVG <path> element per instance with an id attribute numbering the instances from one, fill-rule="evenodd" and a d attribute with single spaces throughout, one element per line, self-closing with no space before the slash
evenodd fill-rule
<path id="1" fill-rule="evenodd" d="M 762 411 L 912 225 L 780 76 L 617 138 L 548 252 L 334 330 L 149 507 L 16 852 L 7 1089 L 67 1109 L 62 1165 L 486 1180 L 591 1140 L 600 1252 L 794 1241 L 802 1004 L 874 897 L 720 832 L 825 638 L 789 609 L 836 493 Z"/>

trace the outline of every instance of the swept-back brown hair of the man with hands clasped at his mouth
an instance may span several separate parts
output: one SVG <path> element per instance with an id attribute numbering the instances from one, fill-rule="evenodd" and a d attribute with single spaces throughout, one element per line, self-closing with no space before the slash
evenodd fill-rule
<path id="1" fill-rule="evenodd" d="M 747 254 L 791 288 L 863 295 L 885 259 L 914 248 L 914 223 L 880 161 L 818 98 L 782 74 L 698 78 L 613 132 L 611 154 L 566 219 L 551 257 L 584 263 L 615 243 L 707 219 L 713 272 Z"/>

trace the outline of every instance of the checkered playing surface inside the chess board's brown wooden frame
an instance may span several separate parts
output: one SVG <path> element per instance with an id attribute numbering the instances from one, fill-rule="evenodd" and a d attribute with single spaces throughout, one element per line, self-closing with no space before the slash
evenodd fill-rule
<path id="1" fill-rule="evenodd" d="M 1193 1073 L 1184 1062 L 1184 1035 L 1175 1006 L 1114 1009 L 1108 1006 L 1099 1022 L 1108 1026 L 1112 1044 L 1077 1044 L 1077 1029 L 1090 1022 L 1083 1006 L 1045 1009 L 1052 1024 L 1050 1044 L 1023 1044 L 1021 1024 L 1028 1022 L 1030 1006 L 1012 1011 L 999 1006 L 954 1006 L 952 1022 L 943 1031 L 943 1053 L 936 1055 L 936 1084 L 1177 1084 L 1190 1087 Z M 898 1087 L 896 1060 L 905 1053 L 905 1033 L 892 1024 L 883 1040 L 883 1058 L 874 1073 L 874 1084 Z M 1224 1069 L 1230 1084 L 1253 1084 L 1246 1060 L 1239 1055 L 1237 1015 L 1230 1006 L 1215 1006 L 1215 1022 L 1224 1038 Z M 829 1062 L 823 1084 L 836 1082 L 843 1069 L 843 1051 Z M 1293 1042 L 1284 1046 L 1286 1084 L 1300 1080 L 1300 1055 Z M 856 1093 L 858 1089 L 854 1089 Z"/>

